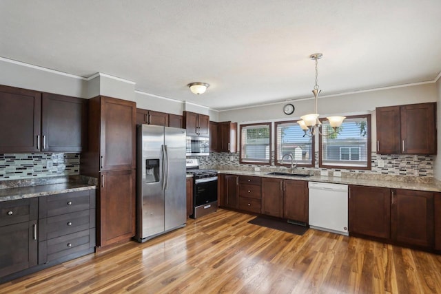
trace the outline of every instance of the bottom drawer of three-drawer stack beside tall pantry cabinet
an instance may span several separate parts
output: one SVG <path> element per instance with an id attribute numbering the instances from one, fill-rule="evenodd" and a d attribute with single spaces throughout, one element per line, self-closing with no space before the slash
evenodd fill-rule
<path id="1" fill-rule="evenodd" d="M 39 242 L 39 264 L 95 246 L 95 229 L 88 229 Z"/>

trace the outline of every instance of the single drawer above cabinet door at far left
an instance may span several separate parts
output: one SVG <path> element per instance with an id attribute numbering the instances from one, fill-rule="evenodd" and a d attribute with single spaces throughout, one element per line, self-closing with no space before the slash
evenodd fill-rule
<path id="1" fill-rule="evenodd" d="M 0 202 L 0 227 L 37 220 L 38 198 Z"/>

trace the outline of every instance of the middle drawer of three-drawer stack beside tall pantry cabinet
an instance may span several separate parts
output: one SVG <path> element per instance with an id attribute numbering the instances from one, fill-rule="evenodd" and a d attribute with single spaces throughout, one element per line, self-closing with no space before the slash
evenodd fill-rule
<path id="1" fill-rule="evenodd" d="M 39 220 L 39 240 L 48 240 L 95 227 L 95 209 Z"/>

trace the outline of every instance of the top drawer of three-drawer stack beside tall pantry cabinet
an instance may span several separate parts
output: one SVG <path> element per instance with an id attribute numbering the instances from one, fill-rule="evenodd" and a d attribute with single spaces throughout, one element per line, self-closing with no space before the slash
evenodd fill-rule
<path id="1" fill-rule="evenodd" d="M 61 193 L 39 198 L 39 218 L 95 208 L 95 191 Z"/>

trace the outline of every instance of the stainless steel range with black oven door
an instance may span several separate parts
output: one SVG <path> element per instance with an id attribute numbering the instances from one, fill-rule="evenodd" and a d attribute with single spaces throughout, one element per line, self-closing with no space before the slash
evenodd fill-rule
<path id="1" fill-rule="evenodd" d="M 198 159 L 186 160 L 187 174 L 193 175 L 193 214 L 200 218 L 218 209 L 218 172 L 199 169 Z"/>

